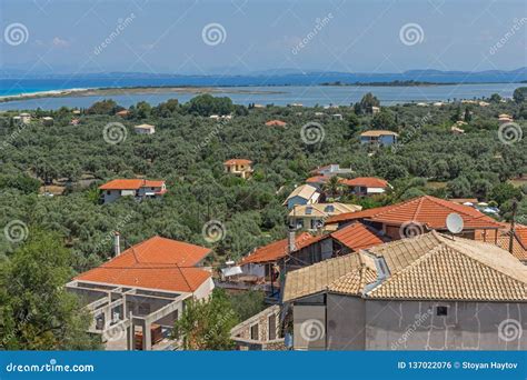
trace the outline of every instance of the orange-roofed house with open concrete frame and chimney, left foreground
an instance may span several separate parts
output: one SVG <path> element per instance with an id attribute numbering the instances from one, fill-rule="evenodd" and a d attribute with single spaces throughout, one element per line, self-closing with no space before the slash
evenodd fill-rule
<path id="1" fill-rule="evenodd" d="M 92 314 L 90 332 L 100 334 L 107 349 L 168 348 L 162 337 L 185 302 L 207 298 L 213 289 L 211 272 L 202 267 L 209 253 L 209 248 L 161 237 L 121 252 L 116 233 L 115 257 L 74 277 L 67 289 Z"/>

